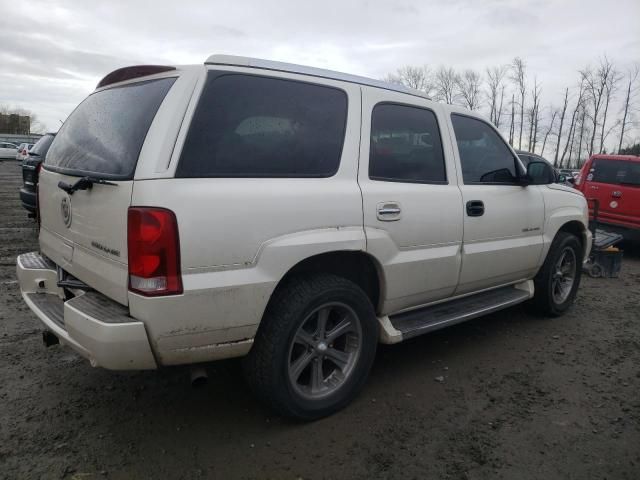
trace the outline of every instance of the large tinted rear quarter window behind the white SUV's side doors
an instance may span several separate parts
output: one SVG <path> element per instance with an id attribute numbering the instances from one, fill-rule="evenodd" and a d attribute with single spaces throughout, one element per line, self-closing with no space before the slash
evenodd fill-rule
<path id="1" fill-rule="evenodd" d="M 177 177 L 329 177 L 340 164 L 344 91 L 210 72 Z"/>

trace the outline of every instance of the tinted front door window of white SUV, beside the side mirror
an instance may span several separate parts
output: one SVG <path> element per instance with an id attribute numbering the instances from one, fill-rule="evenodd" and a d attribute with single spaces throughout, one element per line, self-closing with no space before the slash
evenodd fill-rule
<path id="1" fill-rule="evenodd" d="M 516 160 L 500 136 L 486 123 L 451 115 L 464 183 L 506 183 L 518 179 Z"/>

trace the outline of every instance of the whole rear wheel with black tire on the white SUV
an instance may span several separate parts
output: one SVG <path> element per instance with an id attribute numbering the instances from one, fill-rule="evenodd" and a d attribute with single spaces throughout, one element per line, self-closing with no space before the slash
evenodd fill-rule
<path id="1" fill-rule="evenodd" d="M 362 389 L 377 343 L 375 312 L 360 287 L 335 275 L 292 277 L 269 302 L 245 376 L 279 414 L 318 419 Z"/>

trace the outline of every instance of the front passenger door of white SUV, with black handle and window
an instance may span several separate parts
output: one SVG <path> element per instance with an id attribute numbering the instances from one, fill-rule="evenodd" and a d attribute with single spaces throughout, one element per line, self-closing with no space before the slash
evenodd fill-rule
<path id="1" fill-rule="evenodd" d="M 454 113 L 451 125 L 465 206 L 456 294 L 530 278 L 543 248 L 543 187 L 519 184 L 522 165 L 488 123 Z"/>

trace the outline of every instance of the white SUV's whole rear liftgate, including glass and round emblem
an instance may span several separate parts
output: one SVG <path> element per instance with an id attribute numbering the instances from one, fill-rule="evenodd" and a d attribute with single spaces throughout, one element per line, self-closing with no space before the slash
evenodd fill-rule
<path id="1" fill-rule="evenodd" d="M 84 100 L 40 175 L 40 246 L 66 272 L 127 303 L 127 209 L 138 157 L 175 77 L 120 84 Z M 67 192 L 90 177 L 89 188 Z M 104 180 L 109 184 L 100 184 Z"/>

